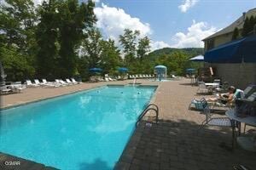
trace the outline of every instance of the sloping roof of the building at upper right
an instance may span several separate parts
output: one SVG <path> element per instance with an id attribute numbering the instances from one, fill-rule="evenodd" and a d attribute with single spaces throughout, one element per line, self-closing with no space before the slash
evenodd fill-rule
<path id="1" fill-rule="evenodd" d="M 230 26 L 225 27 L 221 31 L 218 31 L 218 32 L 212 34 L 212 36 L 209 36 L 209 37 L 203 39 L 202 41 L 206 41 L 207 39 L 211 39 L 212 37 L 218 37 L 218 36 L 230 33 L 232 31 L 234 31 L 236 27 L 239 30 L 241 30 L 243 27 L 243 24 L 244 24 L 244 20 L 247 17 L 250 18 L 252 15 L 256 16 L 256 8 L 252 8 L 252 9 L 248 10 L 247 13 L 245 14 L 245 16 L 242 14 L 241 17 L 239 19 L 237 19 L 235 22 L 233 22 Z"/>

